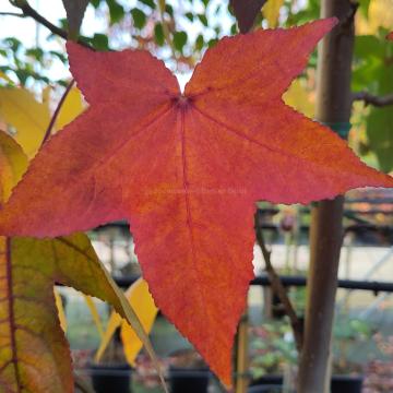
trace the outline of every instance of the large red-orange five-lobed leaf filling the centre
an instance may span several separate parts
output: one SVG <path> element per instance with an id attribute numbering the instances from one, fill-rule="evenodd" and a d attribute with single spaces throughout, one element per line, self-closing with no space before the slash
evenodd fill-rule
<path id="1" fill-rule="evenodd" d="M 58 236 L 127 218 L 157 306 L 230 384 L 233 337 L 253 276 L 254 202 L 393 186 L 281 98 L 335 23 L 224 38 L 184 94 L 147 52 L 69 43 L 91 107 L 36 156 L 0 231 Z"/>

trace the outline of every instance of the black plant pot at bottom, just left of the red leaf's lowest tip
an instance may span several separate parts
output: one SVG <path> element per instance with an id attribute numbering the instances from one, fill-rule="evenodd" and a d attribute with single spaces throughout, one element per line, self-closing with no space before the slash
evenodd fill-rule
<path id="1" fill-rule="evenodd" d="M 210 371 L 206 368 L 191 369 L 170 367 L 169 384 L 171 393 L 207 393 Z"/>

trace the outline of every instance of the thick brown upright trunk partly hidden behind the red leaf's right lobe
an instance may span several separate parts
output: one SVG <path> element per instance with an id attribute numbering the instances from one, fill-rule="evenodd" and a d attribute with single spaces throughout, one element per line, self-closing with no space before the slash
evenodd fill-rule
<path id="1" fill-rule="evenodd" d="M 322 0 L 321 16 L 336 16 L 340 25 L 319 48 L 317 119 L 336 131 L 350 117 L 350 69 L 354 13 L 349 0 Z M 337 271 L 343 228 L 343 196 L 319 202 L 312 209 L 309 288 L 305 341 L 298 373 L 298 393 L 325 391 L 334 318 Z"/>

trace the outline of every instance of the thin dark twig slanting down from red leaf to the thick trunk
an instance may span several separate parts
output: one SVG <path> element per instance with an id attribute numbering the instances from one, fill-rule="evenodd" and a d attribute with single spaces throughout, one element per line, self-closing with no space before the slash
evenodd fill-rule
<path id="1" fill-rule="evenodd" d="M 290 326 L 294 332 L 296 347 L 297 347 L 298 352 L 300 353 L 301 346 L 302 346 L 302 323 L 298 319 L 298 317 L 295 312 L 295 309 L 294 309 L 294 307 L 288 298 L 288 295 L 285 290 L 285 287 L 284 287 L 283 283 L 281 282 L 278 274 L 276 273 L 276 271 L 274 270 L 274 267 L 272 265 L 272 261 L 271 261 L 272 252 L 270 250 L 267 250 L 266 245 L 264 242 L 259 216 L 260 216 L 260 213 L 259 213 L 259 211 L 257 211 L 257 213 L 255 213 L 255 235 L 257 235 L 258 245 L 261 248 L 262 255 L 265 261 L 267 277 L 271 282 L 273 293 L 279 298 L 279 301 L 284 306 L 285 313 L 289 318 Z"/>

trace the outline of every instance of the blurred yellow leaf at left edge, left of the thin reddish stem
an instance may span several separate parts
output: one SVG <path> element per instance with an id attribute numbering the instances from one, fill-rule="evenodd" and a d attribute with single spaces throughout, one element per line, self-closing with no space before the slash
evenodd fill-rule
<path id="1" fill-rule="evenodd" d="M 39 148 L 50 121 L 49 109 L 27 90 L 0 88 L 0 116 L 15 128 L 15 141 L 31 158 Z"/>

